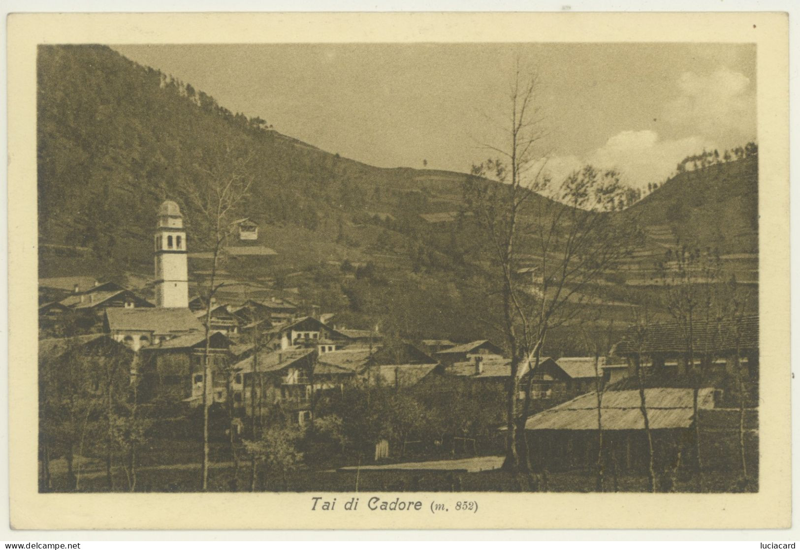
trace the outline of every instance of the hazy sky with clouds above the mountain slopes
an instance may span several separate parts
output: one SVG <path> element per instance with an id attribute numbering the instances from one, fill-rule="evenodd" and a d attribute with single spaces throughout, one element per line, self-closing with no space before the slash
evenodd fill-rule
<path id="1" fill-rule="evenodd" d="M 468 172 L 507 133 L 516 63 L 540 78 L 553 177 L 590 163 L 630 185 L 756 139 L 751 44 L 113 46 L 282 134 L 382 167 Z"/>

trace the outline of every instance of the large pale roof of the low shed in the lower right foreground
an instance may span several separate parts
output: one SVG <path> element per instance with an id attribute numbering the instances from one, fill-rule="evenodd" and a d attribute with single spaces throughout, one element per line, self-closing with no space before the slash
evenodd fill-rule
<path id="1" fill-rule="evenodd" d="M 651 429 L 688 428 L 694 420 L 690 388 L 650 388 L 645 390 L 647 420 Z M 600 421 L 604 430 L 644 429 L 642 401 L 639 391 L 627 389 L 602 394 Z M 714 408 L 714 389 L 698 393 L 698 408 Z M 585 393 L 530 416 L 525 423 L 529 430 L 597 430 L 597 393 Z"/>

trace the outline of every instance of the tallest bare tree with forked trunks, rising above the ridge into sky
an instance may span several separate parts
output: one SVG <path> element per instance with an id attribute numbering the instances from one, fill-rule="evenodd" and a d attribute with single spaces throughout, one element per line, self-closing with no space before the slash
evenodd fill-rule
<path id="1" fill-rule="evenodd" d="M 483 144 L 499 157 L 475 165 L 464 185 L 489 260 L 483 265 L 490 264 L 488 277 L 499 289 L 500 320 L 487 322 L 504 335 L 511 355 L 504 468 L 523 472 L 530 472 L 524 424 L 532 379 L 518 415 L 520 369 L 538 367 L 548 333 L 578 318 L 586 291 L 630 253 L 637 234 L 630 220 L 610 215 L 626 191 L 618 173 L 586 166 L 559 185 L 546 176 L 539 85 L 535 72 L 516 70 L 509 124 L 501 125 L 508 142 Z M 534 274 L 534 284 L 518 277 L 522 270 Z"/>

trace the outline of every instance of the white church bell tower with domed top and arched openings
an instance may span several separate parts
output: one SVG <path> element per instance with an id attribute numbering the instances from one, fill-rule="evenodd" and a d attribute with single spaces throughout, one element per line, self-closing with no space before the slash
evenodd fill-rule
<path id="1" fill-rule="evenodd" d="M 155 300 L 159 308 L 189 307 L 186 269 L 186 231 L 181 209 L 174 201 L 162 202 L 155 230 Z"/>

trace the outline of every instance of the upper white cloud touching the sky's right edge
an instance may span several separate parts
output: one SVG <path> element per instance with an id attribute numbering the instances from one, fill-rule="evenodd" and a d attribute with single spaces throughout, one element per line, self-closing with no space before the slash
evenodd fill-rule
<path id="1" fill-rule="evenodd" d="M 691 134 L 746 139 L 754 135 L 754 90 L 744 74 L 724 66 L 705 75 L 689 71 L 678 79 L 678 90 L 678 97 L 665 106 L 664 122 Z"/>

